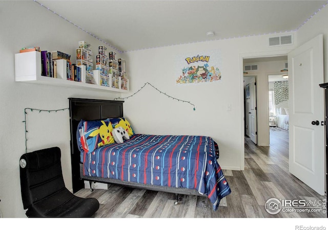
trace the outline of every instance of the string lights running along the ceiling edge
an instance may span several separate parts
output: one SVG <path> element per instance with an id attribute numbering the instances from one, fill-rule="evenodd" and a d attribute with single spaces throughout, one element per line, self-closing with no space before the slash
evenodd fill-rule
<path id="1" fill-rule="evenodd" d="M 192 44 L 192 43 L 199 43 L 199 42 L 204 42 L 204 41 L 194 41 L 194 42 L 186 42 L 186 43 L 176 43 L 176 44 L 171 44 L 171 45 L 162 45 L 162 46 L 158 46 L 158 47 L 149 47 L 149 48 L 141 48 L 141 49 L 136 49 L 136 50 L 127 50 L 127 51 L 120 51 L 118 50 L 117 48 L 115 48 L 113 45 L 109 44 L 108 42 L 104 41 L 103 39 L 101 38 L 98 38 L 96 37 L 94 34 L 86 31 L 85 29 L 79 27 L 78 25 L 74 24 L 72 21 L 68 20 L 67 18 L 63 17 L 62 15 L 56 13 L 55 11 L 49 9 L 48 7 L 44 6 L 43 4 L 40 4 L 39 2 L 37 2 L 36 0 L 33 0 L 35 3 L 37 3 L 38 5 L 44 7 L 45 9 L 49 10 L 50 12 L 56 14 L 57 16 L 59 16 L 60 18 L 63 18 L 64 20 L 68 21 L 70 24 L 72 24 L 73 26 L 77 27 L 78 29 L 80 30 L 83 30 L 84 32 L 88 33 L 89 35 L 95 37 L 97 40 L 107 44 L 109 47 L 111 47 L 112 49 L 116 50 L 118 53 L 128 53 L 128 52 L 133 52 L 133 51 L 143 51 L 143 50 L 151 50 L 151 49 L 156 49 L 156 48 L 161 48 L 161 47 L 172 47 L 172 46 L 175 46 L 175 45 L 181 45 L 181 44 Z M 285 31 L 285 33 L 289 33 L 289 32 L 296 32 L 298 31 L 302 26 L 304 26 L 304 24 L 306 22 L 308 22 L 314 15 L 316 15 L 322 8 L 324 8 L 326 5 L 328 4 L 328 1 L 322 5 L 316 12 L 314 12 L 314 14 L 312 14 L 308 19 L 306 19 L 302 25 L 300 25 L 297 29 L 294 29 L 294 30 L 290 30 L 290 31 Z M 276 34 L 277 32 L 269 32 L 269 34 Z M 279 33 L 282 33 L 282 32 L 279 32 Z M 253 34 L 253 35 L 243 35 L 242 37 L 251 37 L 251 36 L 261 36 L 261 35 L 267 35 L 268 33 L 263 33 L 263 34 Z M 240 38 L 241 36 L 238 35 L 238 36 L 235 36 L 235 37 L 225 37 L 225 38 L 218 38 L 218 39 L 211 39 L 211 41 L 217 41 L 217 40 L 226 40 L 226 39 L 232 39 L 232 38 Z M 206 40 L 205 40 L 206 41 Z"/>

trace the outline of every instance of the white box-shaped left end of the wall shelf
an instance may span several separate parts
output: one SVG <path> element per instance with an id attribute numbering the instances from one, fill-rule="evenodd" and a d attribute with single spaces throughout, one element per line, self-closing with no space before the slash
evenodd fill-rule
<path id="1" fill-rule="evenodd" d="M 33 81 L 41 76 L 41 53 L 38 51 L 15 54 L 15 81 Z"/>

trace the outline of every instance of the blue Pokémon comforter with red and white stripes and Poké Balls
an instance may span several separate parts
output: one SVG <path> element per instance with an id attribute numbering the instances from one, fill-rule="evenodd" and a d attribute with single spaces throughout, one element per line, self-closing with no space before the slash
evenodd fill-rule
<path id="1" fill-rule="evenodd" d="M 208 196 L 216 211 L 231 193 L 208 136 L 134 134 L 92 152 L 81 151 L 83 174 L 188 188 Z"/>

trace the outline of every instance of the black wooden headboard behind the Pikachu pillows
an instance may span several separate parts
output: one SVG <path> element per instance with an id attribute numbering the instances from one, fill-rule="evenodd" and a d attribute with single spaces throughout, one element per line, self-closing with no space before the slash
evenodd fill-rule
<path id="1" fill-rule="evenodd" d="M 69 98 L 73 193 L 84 188 L 84 181 L 80 179 L 80 151 L 77 148 L 76 140 L 78 123 L 80 120 L 102 120 L 123 117 L 123 102 Z"/>

